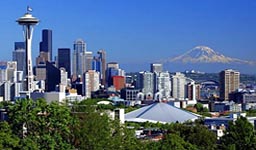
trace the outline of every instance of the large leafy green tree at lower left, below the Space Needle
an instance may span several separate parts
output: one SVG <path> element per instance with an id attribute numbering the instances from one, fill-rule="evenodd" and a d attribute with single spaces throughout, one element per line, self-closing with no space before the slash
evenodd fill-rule
<path id="1" fill-rule="evenodd" d="M 72 149 L 69 142 L 70 109 L 44 99 L 18 100 L 9 107 L 9 123 L 22 147 L 35 149 Z"/>

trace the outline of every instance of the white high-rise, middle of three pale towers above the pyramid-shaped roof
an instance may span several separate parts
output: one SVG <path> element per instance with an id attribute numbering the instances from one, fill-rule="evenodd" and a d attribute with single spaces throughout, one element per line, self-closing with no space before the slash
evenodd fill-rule
<path id="1" fill-rule="evenodd" d="M 171 80 L 169 72 L 160 72 L 157 76 L 157 91 L 163 98 L 171 96 Z"/>

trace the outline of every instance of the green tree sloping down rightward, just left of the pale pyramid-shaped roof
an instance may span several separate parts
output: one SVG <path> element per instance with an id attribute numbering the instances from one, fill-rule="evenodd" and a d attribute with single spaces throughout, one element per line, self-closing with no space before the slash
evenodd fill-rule
<path id="1" fill-rule="evenodd" d="M 74 106 L 75 124 L 72 127 L 73 145 L 78 149 L 141 149 L 134 131 L 111 120 L 105 110 L 97 110 L 95 105 Z"/>

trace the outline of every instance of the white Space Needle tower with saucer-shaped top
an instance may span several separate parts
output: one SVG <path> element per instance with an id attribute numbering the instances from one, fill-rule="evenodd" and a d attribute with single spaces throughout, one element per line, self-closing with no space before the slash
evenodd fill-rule
<path id="1" fill-rule="evenodd" d="M 38 24 L 39 20 L 32 16 L 32 9 L 27 7 L 27 12 L 24 16 L 20 17 L 16 22 L 23 27 L 23 34 L 25 38 L 25 49 L 26 49 L 26 80 L 24 90 L 27 92 L 27 96 L 30 98 L 30 93 L 33 92 L 33 70 L 32 70 L 32 56 L 31 56 L 31 46 L 32 46 L 32 36 L 33 27 Z"/>

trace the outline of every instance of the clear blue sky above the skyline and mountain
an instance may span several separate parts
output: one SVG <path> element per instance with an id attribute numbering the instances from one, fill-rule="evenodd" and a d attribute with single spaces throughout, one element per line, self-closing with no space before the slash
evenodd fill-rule
<path id="1" fill-rule="evenodd" d="M 240 59 L 256 60 L 255 0 L 8 0 L 0 1 L 0 60 L 11 60 L 22 30 L 15 20 L 27 5 L 40 19 L 35 27 L 33 57 L 41 30 L 53 30 L 57 48 L 73 47 L 77 38 L 88 50 L 107 51 L 108 61 L 154 62 L 197 46 Z M 139 71 L 135 67 L 128 71 Z"/>

